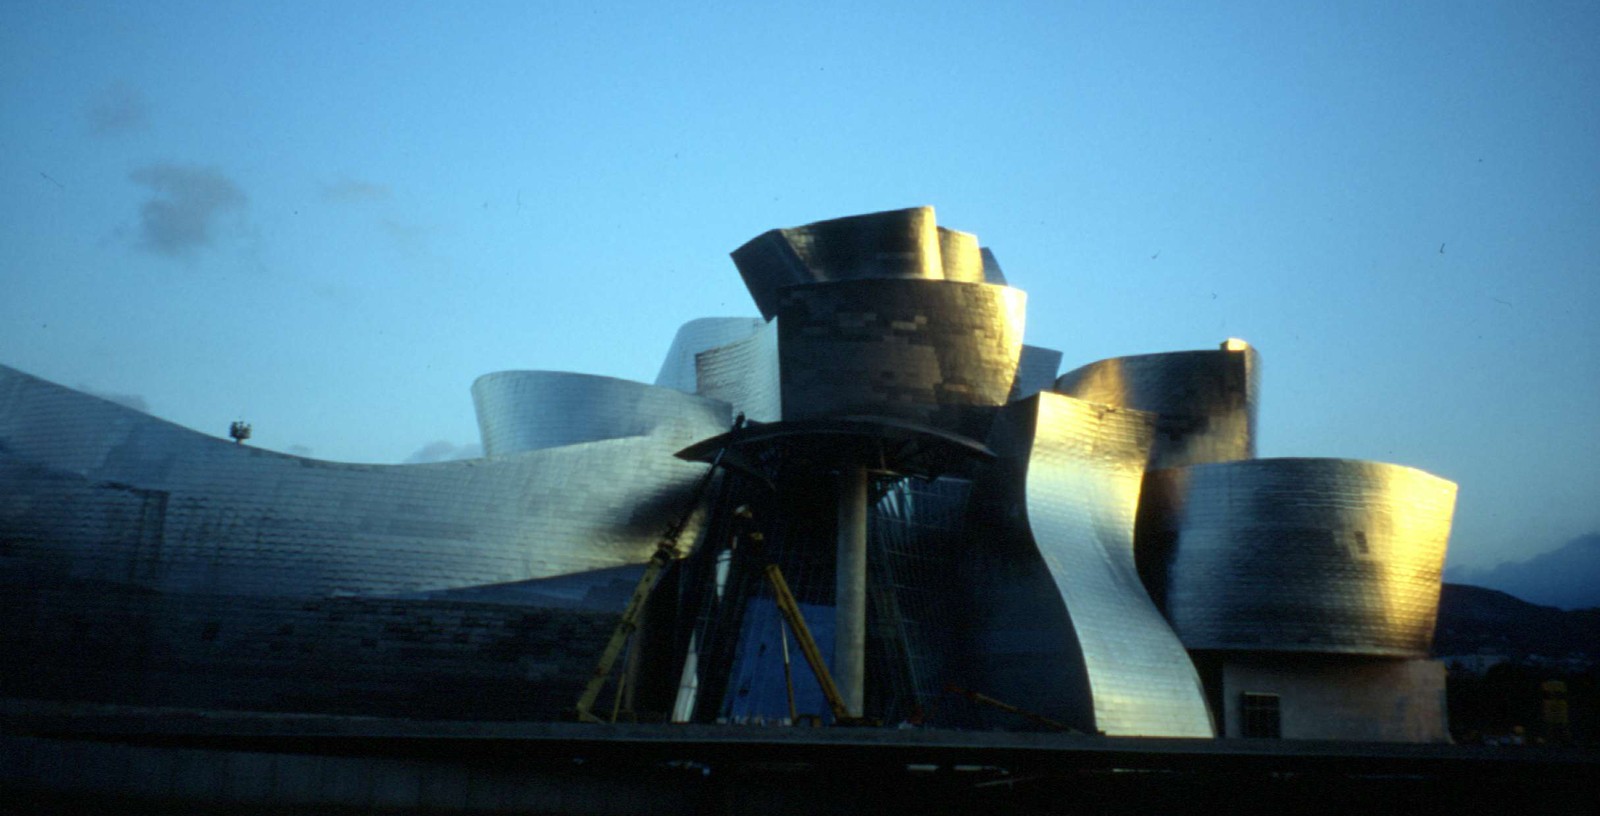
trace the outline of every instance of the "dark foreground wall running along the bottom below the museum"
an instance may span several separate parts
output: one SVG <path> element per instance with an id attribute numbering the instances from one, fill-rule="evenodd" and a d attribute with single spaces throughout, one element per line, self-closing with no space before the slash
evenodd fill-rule
<path id="1" fill-rule="evenodd" d="M 27 813 L 1416 816 L 1600 802 L 1600 757 L 1570 749 L 40 706 L 0 718 L 0 795 Z"/>

